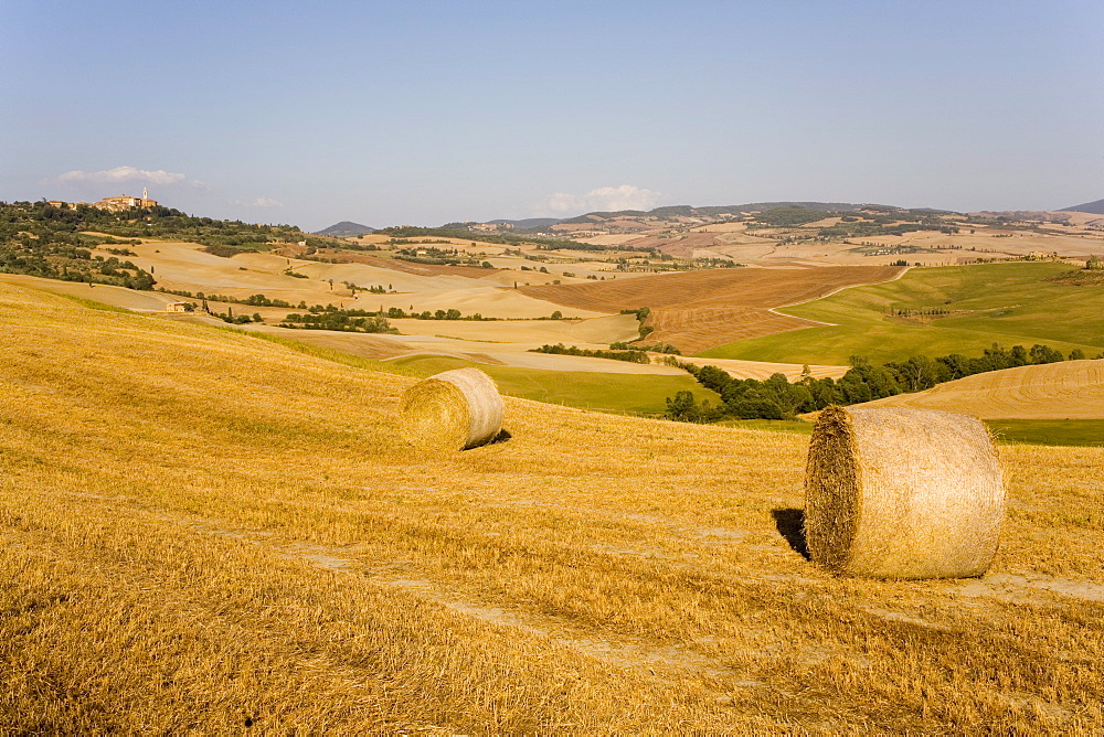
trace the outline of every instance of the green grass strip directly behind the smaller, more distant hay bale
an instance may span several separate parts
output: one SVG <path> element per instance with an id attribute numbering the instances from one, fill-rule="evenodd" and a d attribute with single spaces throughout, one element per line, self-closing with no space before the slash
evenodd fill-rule
<path id="1" fill-rule="evenodd" d="M 403 373 L 431 376 L 449 368 L 475 366 L 497 383 L 502 394 L 550 404 L 618 414 L 655 415 L 667 409 L 667 397 L 677 392 L 693 392 L 701 402 L 716 405 L 721 398 L 704 388 L 689 374 L 605 374 L 583 371 L 543 371 L 516 366 L 489 366 L 461 359 L 443 356 L 410 356 L 382 362 Z M 386 368 L 384 368 L 386 370 Z"/>

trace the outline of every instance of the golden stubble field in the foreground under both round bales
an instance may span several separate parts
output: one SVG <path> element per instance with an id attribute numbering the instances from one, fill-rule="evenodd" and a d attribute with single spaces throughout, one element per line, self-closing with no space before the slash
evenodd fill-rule
<path id="1" fill-rule="evenodd" d="M 799 436 L 508 399 L 427 457 L 367 362 L 12 287 L 0 328 L 6 731 L 1104 729 L 1102 449 L 1001 449 L 985 578 L 847 580 Z"/>

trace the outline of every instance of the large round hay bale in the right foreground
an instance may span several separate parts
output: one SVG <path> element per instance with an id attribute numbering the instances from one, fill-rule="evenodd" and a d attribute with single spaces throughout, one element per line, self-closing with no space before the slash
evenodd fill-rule
<path id="1" fill-rule="evenodd" d="M 980 576 L 1005 485 L 988 428 L 931 409 L 829 407 L 805 473 L 813 560 L 862 578 Z"/>

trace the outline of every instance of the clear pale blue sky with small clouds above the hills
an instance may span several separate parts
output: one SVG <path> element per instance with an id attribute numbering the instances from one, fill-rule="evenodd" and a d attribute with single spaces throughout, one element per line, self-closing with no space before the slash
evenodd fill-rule
<path id="1" fill-rule="evenodd" d="M 1104 197 L 1104 2 L 0 0 L 0 200 L 318 229 Z"/>

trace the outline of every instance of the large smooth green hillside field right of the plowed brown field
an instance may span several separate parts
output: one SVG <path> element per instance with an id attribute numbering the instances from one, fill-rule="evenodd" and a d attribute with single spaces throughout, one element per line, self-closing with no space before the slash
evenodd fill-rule
<path id="1" fill-rule="evenodd" d="M 1044 343 L 1066 355 L 1080 348 L 1093 357 L 1104 349 L 1104 286 L 1045 280 L 1071 268 L 1052 263 L 915 268 L 896 281 L 781 310 L 832 325 L 729 343 L 699 355 L 810 364 L 846 364 L 862 355 L 885 363 L 915 354 L 980 355 L 992 343 Z M 927 322 L 890 314 L 934 308 L 954 313 Z"/>

